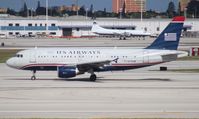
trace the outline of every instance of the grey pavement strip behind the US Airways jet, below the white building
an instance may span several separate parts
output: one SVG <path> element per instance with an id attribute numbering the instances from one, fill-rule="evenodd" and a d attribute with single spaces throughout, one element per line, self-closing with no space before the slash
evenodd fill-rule
<path id="1" fill-rule="evenodd" d="M 78 39 L 37 39 L 37 38 L 18 38 L 18 39 L 0 39 L 4 43 L 1 48 L 31 48 L 31 47 L 146 47 L 156 38 L 128 38 L 119 40 L 119 38 L 78 38 Z M 189 50 L 191 47 L 198 47 L 198 38 L 181 38 L 179 49 Z"/>

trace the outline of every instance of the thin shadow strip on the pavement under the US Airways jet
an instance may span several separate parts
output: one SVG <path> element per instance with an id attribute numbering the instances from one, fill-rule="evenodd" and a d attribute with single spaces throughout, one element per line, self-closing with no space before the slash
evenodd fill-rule
<path id="1" fill-rule="evenodd" d="M 104 77 L 98 77 L 98 79 L 95 81 L 96 83 L 102 83 L 102 82 L 105 82 L 105 81 L 172 81 L 171 79 L 168 79 L 168 78 L 144 78 L 144 79 L 101 79 L 101 78 L 104 78 Z M 27 79 L 27 78 L 9 78 L 9 79 L 6 79 L 6 80 L 30 80 L 30 79 Z M 60 78 L 51 78 L 51 79 L 47 79 L 47 78 L 38 78 L 36 79 L 37 80 L 54 80 L 54 81 L 82 81 L 82 82 L 91 82 L 89 80 L 89 78 L 72 78 L 72 79 L 60 79 Z M 31 80 L 30 80 L 31 81 Z M 34 81 L 34 80 L 33 80 Z"/>

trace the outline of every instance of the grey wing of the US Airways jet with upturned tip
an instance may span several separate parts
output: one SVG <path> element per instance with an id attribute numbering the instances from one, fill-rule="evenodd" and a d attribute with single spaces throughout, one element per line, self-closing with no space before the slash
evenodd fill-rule
<path id="1" fill-rule="evenodd" d="M 102 61 L 93 61 L 77 64 L 77 68 L 82 72 L 87 72 L 90 69 L 99 69 L 105 65 L 109 65 L 111 62 L 117 62 L 117 59 L 114 60 L 102 60 Z"/>

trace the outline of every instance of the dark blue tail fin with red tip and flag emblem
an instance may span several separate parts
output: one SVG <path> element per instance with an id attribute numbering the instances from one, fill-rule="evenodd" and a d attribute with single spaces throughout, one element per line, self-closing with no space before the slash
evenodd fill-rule
<path id="1" fill-rule="evenodd" d="M 177 50 L 185 17 L 174 17 L 158 38 L 146 49 Z"/>

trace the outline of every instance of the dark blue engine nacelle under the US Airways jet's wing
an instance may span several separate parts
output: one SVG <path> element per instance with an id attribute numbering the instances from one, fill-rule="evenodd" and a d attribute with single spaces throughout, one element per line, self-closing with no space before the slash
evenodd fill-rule
<path id="1" fill-rule="evenodd" d="M 61 66 L 58 67 L 58 77 L 59 78 L 71 78 L 78 74 L 77 67 L 74 66 Z"/>

